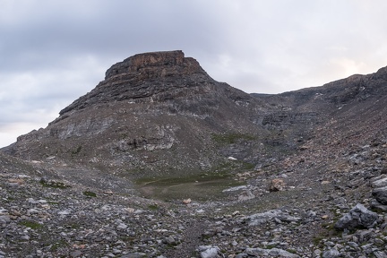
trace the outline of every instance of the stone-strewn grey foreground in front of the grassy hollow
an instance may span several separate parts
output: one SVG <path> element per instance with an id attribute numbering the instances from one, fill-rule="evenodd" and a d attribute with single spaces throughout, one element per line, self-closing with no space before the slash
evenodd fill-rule
<path id="1" fill-rule="evenodd" d="M 0 257 L 387 257 L 386 147 L 331 163 L 306 150 L 211 202 L 104 192 L 2 155 Z"/>

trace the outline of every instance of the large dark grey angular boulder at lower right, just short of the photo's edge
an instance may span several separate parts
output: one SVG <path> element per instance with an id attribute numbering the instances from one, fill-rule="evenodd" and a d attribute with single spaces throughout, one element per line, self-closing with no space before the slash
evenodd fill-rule
<path id="1" fill-rule="evenodd" d="M 347 214 L 335 224 L 337 229 L 373 228 L 377 223 L 378 214 L 368 211 L 363 204 L 357 203 Z"/>

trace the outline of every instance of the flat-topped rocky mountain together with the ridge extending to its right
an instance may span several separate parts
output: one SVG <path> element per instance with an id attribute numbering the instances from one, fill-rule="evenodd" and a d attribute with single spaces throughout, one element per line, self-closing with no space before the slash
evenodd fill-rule
<path id="1" fill-rule="evenodd" d="M 376 122 L 372 131 L 381 133 L 386 71 L 249 95 L 214 81 L 182 51 L 139 54 L 112 65 L 104 81 L 47 128 L 20 136 L 4 151 L 132 176 L 209 171 L 229 156 L 262 166 L 323 135 L 347 139 Z"/>

